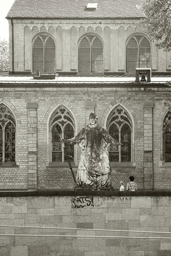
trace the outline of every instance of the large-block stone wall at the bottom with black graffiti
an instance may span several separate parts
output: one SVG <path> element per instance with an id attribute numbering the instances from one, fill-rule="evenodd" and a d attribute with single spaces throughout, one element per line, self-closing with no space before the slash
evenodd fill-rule
<path id="1" fill-rule="evenodd" d="M 2 192 L 1 192 L 2 193 Z M 0 236 L 1 256 L 170 256 L 170 237 L 147 231 L 170 232 L 170 196 L 19 196 L 0 197 L 0 234 L 40 236 Z M 65 194 L 65 193 L 64 193 Z M 146 231 L 111 232 L 95 230 L 43 229 L 58 227 Z M 46 236 L 47 235 L 47 236 Z M 123 236 L 103 237 L 48 237 Z M 124 238 L 137 236 L 137 238 Z M 145 238 L 138 238 L 143 236 Z"/>

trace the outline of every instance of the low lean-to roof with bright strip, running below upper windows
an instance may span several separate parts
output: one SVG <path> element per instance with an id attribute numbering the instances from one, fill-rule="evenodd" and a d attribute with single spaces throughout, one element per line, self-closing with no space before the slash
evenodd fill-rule
<path id="1" fill-rule="evenodd" d="M 116 86 L 116 85 L 124 85 L 125 87 L 131 85 L 133 86 L 135 83 L 135 74 L 114 74 L 114 75 L 57 75 L 55 79 L 52 80 L 36 80 L 33 78 L 35 74 L 9 74 L 9 72 L 0 72 L 0 86 L 2 85 L 9 85 L 13 84 L 14 86 L 18 86 L 19 84 L 49 84 L 60 86 L 60 85 L 84 85 L 84 86 Z M 151 77 L 151 83 L 140 83 L 139 85 L 146 85 L 146 86 L 155 86 L 155 85 L 165 85 L 167 81 L 171 81 L 171 73 L 165 74 L 153 74 Z"/>

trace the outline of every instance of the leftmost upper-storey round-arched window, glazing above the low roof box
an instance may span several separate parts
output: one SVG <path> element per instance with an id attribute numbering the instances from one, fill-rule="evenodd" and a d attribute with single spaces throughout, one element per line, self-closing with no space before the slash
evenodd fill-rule
<path id="1" fill-rule="evenodd" d="M 33 43 L 33 72 L 56 72 L 56 46 L 53 38 L 47 34 L 41 34 Z"/>

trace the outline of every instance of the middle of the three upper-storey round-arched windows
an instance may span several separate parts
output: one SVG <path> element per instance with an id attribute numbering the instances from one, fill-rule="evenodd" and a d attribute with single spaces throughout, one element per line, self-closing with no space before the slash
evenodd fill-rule
<path id="1" fill-rule="evenodd" d="M 103 73 L 103 43 L 96 35 L 88 34 L 80 41 L 79 73 Z"/>

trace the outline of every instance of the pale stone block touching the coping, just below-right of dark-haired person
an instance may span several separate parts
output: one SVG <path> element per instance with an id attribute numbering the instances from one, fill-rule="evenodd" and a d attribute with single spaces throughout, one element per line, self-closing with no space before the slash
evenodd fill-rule
<path id="1" fill-rule="evenodd" d="M 147 196 L 133 196 L 131 199 L 131 208 L 151 208 L 152 202 L 151 202 L 151 197 Z"/>

